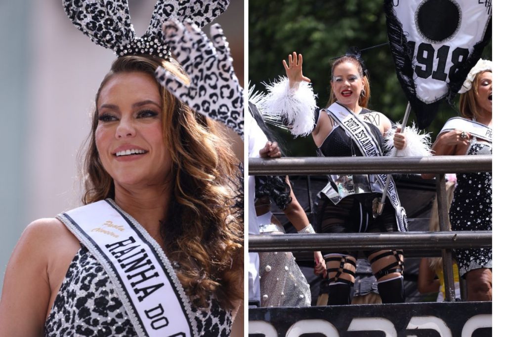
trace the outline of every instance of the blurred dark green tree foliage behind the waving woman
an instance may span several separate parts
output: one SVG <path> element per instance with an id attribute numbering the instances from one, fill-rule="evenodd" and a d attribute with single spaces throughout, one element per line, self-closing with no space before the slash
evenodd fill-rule
<path id="1" fill-rule="evenodd" d="M 304 56 L 304 75 L 311 78 L 324 107 L 330 92 L 330 59 L 346 53 L 350 46 L 365 49 L 388 42 L 383 0 L 254 0 L 249 2 L 249 80 L 257 89 L 262 82 L 284 75 L 282 59 L 291 52 Z M 492 43 L 483 58 L 491 60 Z M 407 99 L 397 80 L 388 45 L 364 51 L 369 69 L 370 108 L 394 121 L 402 121 Z M 436 119 L 425 130 L 433 140 L 444 122 L 458 115 L 454 106 L 442 102 Z M 414 120 L 411 112 L 408 125 Z M 276 130 L 278 131 L 278 130 Z M 314 156 L 311 137 L 294 139 L 282 132 L 289 156 Z"/>

